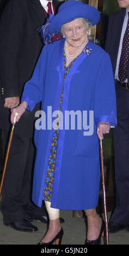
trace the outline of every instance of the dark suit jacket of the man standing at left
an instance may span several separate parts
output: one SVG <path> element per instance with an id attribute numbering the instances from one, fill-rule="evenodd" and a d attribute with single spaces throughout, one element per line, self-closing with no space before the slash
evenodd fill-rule
<path id="1" fill-rule="evenodd" d="M 57 7 L 59 2 L 53 0 Z M 42 49 L 37 29 L 46 22 L 39 0 L 9 0 L 0 22 L 0 81 L 4 95 L 0 96 L 0 128 L 9 130 L 10 109 L 4 108 L 4 98 L 20 96 L 24 83 L 32 76 Z M 14 132 L 32 137 L 35 111 L 26 111 L 15 125 Z"/>

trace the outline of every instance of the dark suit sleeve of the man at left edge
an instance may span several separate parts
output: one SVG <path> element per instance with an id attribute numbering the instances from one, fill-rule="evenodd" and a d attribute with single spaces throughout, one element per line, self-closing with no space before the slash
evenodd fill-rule
<path id="1" fill-rule="evenodd" d="M 19 53 L 24 32 L 20 1 L 10 0 L 0 21 L 0 79 L 4 97 L 20 96 Z"/>

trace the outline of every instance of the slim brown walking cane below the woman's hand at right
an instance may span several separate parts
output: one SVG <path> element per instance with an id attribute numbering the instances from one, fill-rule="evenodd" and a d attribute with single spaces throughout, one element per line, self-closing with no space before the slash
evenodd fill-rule
<path id="1" fill-rule="evenodd" d="M 105 209 L 105 223 L 106 223 L 106 244 L 109 245 L 107 206 L 106 206 L 106 193 L 105 193 L 105 169 L 104 169 L 104 157 L 103 157 L 103 148 L 102 148 L 101 138 L 100 138 L 100 159 L 101 159 L 101 174 L 102 174 L 102 187 L 103 187 L 103 205 Z"/>

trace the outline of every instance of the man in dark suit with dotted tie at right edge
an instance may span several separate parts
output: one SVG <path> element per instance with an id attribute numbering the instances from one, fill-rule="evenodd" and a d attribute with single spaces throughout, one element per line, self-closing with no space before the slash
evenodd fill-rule
<path id="1" fill-rule="evenodd" d="M 115 209 L 109 231 L 129 231 L 129 0 L 118 0 L 118 13 L 109 17 L 106 51 L 112 60 L 118 125 L 114 129 Z"/>

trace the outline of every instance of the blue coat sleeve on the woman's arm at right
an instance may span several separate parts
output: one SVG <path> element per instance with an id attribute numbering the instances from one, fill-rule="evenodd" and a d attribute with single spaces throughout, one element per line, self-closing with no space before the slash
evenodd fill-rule
<path id="1" fill-rule="evenodd" d="M 108 122 L 116 126 L 116 95 L 112 64 L 108 53 L 105 53 L 99 66 L 95 95 L 94 117 L 96 125 L 100 122 Z"/>

